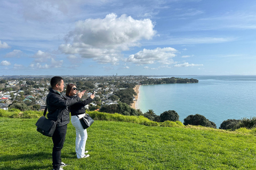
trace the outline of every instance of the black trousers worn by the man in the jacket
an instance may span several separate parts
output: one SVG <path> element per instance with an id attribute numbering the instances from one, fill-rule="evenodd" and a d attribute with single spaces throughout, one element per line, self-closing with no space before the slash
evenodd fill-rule
<path id="1" fill-rule="evenodd" d="M 61 149 L 63 148 L 66 133 L 67 125 L 60 126 L 55 129 L 55 132 L 52 136 L 53 148 L 52 148 L 52 165 L 54 169 L 60 168 L 61 164 Z"/>

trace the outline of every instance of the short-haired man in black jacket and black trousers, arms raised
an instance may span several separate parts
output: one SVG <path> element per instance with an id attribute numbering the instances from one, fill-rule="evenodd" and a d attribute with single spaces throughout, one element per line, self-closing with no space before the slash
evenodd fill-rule
<path id="1" fill-rule="evenodd" d="M 64 89 L 64 82 L 61 77 L 53 77 L 51 79 L 51 88 L 46 98 L 46 105 L 48 109 L 47 117 L 50 120 L 57 121 L 61 114 L 56 130 L 53 133 L 53 149 L 52 149 L 52 165 L 53 170 L 63 170 L 62 166 L 66 166 L 61 162 L 61 149 L 66 137 L 67 124 L 69 123 L 69 109 L 68 107 L 77 103 L 85 91 L 79 92 L 74 98 L 67 98 L 61 92 Z"/>

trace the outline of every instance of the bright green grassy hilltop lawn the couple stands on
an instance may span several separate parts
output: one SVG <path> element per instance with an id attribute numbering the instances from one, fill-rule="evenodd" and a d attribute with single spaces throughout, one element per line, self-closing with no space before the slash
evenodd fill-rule
<path id="1" fill-rule="evenodd" d="M 36 131 L 37 119 L 0 117 L 0 169 L 52 169 L 52 140 Z M 65 170 L 256 169 L 255 129 L 95 120 L 87 132 L 90 157 L 77 159 L 75 128 L 68 124 L 61 156 L 69 164 Z"/>

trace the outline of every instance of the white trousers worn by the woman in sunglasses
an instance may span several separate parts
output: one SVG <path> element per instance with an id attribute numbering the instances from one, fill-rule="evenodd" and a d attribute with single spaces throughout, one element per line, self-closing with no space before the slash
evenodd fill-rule
<path id="1" fill-rule="evenodd" d="M 85 114 L 78 115 L 80 118 Z M 79 118 L 77 116 L 71 116 L 71 123 L 76 128 L 76 156 L 77 158 L 83 158 L 85 156 L 85 144 L 87 140 L 87 131 L 83 128 Z"/>

